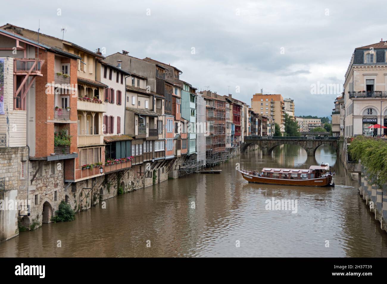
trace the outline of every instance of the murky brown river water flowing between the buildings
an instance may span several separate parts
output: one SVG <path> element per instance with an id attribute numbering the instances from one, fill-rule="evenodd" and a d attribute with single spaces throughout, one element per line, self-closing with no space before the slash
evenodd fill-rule
<path id="1" fill-rule="evenodd" d="M 219 175 L 167 180 L 22 232 L 0 244 L 0 257 L 387 257 L 387 234 L 336 160 L 329 146 L 315 157 L 295 145 L 253 151 L 217 167 Z M 322 162 L 336 170 L 336 187 L 252 184 L 235 170 Z M 296 207 L 266 210 L 272 197 Z"/>

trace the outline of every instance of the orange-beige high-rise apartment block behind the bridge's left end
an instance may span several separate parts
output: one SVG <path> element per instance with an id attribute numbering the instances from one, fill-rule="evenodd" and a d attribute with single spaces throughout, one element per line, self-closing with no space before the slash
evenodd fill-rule
<path id="1" fill-rule="evenodd" d="M 281 128 L 281 133 L 285 132 L 285 104 L 280 94 L 257 93 L 251 99 L 251 109 L 260 115 L 273 119 Z"/>

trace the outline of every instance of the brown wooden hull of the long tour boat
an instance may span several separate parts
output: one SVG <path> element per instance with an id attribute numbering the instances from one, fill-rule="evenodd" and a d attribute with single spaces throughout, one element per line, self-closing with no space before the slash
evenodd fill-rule
<path id="1" fill-rule="evenodd" d="M 273 179 L 269 177 L 258 177 L 250 175 L 248 173 L 239 171 L 242 174 L 243 179 L 248 182 L 255 182 L 258 184 L 276 184 L 276 185 L 298 185 L 298 186 L 334 186 L 332 182 L 332 176 L 327 175 L 319 179 Z"/>

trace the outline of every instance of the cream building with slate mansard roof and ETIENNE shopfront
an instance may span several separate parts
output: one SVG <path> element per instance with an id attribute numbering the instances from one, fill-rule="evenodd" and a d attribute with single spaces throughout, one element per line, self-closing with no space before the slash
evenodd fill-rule
<path id="1" fill-rule="evenodd" d="M 387 41 L 355 48 L 345 74 L 343 99 L 346 137 L 380 135 L 380 129 L 369 127 L 387 126 Z"/>

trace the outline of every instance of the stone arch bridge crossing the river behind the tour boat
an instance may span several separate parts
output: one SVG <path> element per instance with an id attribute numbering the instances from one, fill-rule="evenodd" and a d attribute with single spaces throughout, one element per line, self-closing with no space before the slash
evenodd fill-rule
<path id="1" fill-rule="evenodd" d="M 339 137 L 245 136 L 245 142 L 241 144 L 241 152 L 245 153 L 250 145 L 258 145 L 263 155 L 270 155 L 277 146 L 291 144 L 304 148 L 308 156 L 314 156 L 321 145 L 332 146 L 337 153 L 338 140 Z"/>

